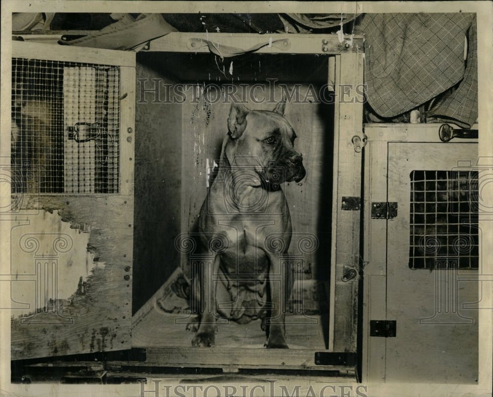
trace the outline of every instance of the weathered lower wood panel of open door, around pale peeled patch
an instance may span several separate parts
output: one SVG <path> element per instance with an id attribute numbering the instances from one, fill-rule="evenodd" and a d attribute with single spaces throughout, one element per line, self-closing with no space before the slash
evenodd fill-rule
<path id="1" fill-rule="evenodd" d="M 27 196 L 22 208 L 54 212 L 72 227 L 89 230 L 88 249 L 99 264 L 81 291 L 58 302 L 63 317 L 43 311 L 35 316 L 40 324 L 12 320 L 12 359 L 129 348 L 133 197 Z"/>

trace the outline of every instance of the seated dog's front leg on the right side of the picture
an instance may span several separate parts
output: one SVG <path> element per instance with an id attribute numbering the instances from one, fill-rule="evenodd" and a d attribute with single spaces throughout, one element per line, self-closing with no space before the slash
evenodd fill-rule
<path id="1" fill-rule="evenodd" d="M 269 255 L 269 287 L 271 290 L 271 315 L 267 319 L 269 338 L 267 349 L 288 349 L 285 339 L 284 318 L 289 293 L 287 269 L 282 269 L 279 254 Z"/>

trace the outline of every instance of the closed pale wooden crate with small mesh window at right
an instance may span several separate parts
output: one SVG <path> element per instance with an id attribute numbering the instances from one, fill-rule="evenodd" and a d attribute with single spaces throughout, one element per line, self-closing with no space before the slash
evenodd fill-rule
<path id="1" fill-rule="evenodd" d="M 491 164 L 477 139 L 444 143 L 440 127 L 364 127 L 363 377 L 375 382 L 478 379 L 478 178 Z"/>

